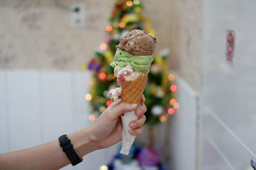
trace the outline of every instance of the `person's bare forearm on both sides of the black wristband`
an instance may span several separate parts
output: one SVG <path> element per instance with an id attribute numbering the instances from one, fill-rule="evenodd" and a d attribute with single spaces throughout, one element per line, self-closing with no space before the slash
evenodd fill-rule
<path id="1" fill-rule="evenodd" d="M 97 145 L 90 141 L 89 136 L 86 129 L 68 135 L 80 158 L 97 150 Z M 60 169 L 68 164 L 70 161 L 62 151 L 58 140 L 0 155 L 0 169 Z"/>

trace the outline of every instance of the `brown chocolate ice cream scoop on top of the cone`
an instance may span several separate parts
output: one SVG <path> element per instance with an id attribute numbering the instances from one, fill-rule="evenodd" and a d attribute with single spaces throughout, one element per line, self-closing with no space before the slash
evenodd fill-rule
<path id="1" fill-rule="evenodd" d="M 133 29 L 125 34 L 116 46 L 132 55 L 152 55 L 155 47 L 156 38 L 139 29 Z"/>

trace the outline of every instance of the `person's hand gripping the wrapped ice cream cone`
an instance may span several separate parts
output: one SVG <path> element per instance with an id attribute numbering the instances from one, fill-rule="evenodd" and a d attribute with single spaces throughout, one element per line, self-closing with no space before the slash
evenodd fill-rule
<path id="1" fill-rule="evenodd" d="M 113 102 L 97 120 L 88 127 L 90 141 L 97 143 L 98 148 L 108 148 L 122 140 L 122 121 L 120 115 L 122 113 L 135 110 L 135 114 L 139 117 L 138 120 L 130 122 L 132 128 L 130 134 L 140 135 L 143 132 L 142 125 L 144 124 L 146 117 L 144 113 L 147 108 L 144 104 L 145 97 L 141 98 L 141 106 L 138 104 L 122 103 L 119 100 Z"/>

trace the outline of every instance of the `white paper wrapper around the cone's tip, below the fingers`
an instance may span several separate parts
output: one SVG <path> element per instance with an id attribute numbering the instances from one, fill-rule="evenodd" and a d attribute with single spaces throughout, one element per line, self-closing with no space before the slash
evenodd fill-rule
<path id="1" fill-rule="evenodd" d="M 132 143 L 134 142 L 134 139 L 136 137 L 129 133 L 129 130 L 131 129 L 131 127 L 129 127 L 129 123 L 132 120 L 137 120 L 138 117 L 135 115 L 135 111 L 129 111 L 124 113 L 124 116 L 121 116 L 121 118 L 122 118 L 123 130 L 122 130 L 122 149 L 120 153 L 128 155 L 130 148 L 132 146 Z"/>

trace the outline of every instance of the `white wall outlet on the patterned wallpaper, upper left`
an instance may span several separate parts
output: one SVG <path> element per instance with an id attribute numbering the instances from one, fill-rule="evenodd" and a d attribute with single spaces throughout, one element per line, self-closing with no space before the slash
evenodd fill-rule
<path id="1" fill-rule="evenodd" d="M 75 3 L 71 6 L 70 22 L 72 27 L 84 27 L 86 22 L 85 4 Z"/>

